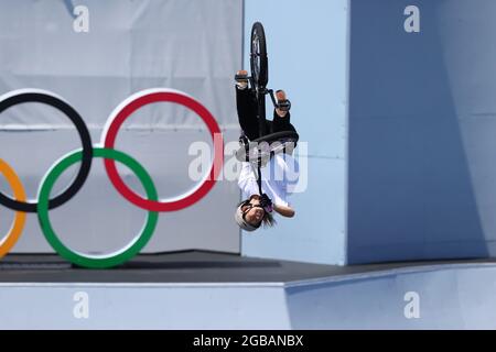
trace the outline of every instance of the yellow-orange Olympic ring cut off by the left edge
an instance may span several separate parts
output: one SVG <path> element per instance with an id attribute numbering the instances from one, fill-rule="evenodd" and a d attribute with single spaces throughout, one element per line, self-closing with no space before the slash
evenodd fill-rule
<path id="1" fill-rule="evenodd" d="M 12 188 L 13 196 L 19 201 L 25 201 L 25 191 L 22 187 L 21 180 L 12 167 L 9 166 L 3 160 L 0 158 L 0 173 L 7 178 L 10 187 Z M 25 212 L 15 211 L 15 218 L 7 233 L 6 238 L 0 240 L 0 257 L 6 255 L 11 248 L 14 246 L 15 242 L 18 242 L 21 237 L 22 229 L 25 223 Z"/>

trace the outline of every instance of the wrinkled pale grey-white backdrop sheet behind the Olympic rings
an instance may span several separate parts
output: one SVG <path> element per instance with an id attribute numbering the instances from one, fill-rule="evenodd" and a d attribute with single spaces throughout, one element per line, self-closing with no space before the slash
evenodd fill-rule
<path id="1" fill-rule="evenodd" d="M 0 1 L 0 95 L 39 88 L 63 97 L 83 117 L 93 143 L 100 142 L 112 110 L 131 95 L 172 88 L 201 102 L 227 143 L 237 139 L 234 73 L 241 65 L 242 0 Z M 174 102 L 147 105 L 122 124 L 116 150 L 128 153 L 151 175 L 161 198 L 197 184 L 191 165 L 194 142 L 213 145 L 202 118 Z M 28 197 L 36 197 L 43 175 L 80 140 L 63 113 L 42 103 L 22 103 L 0 114 L 0 157 L 20 176 Z M 71 183 L 77 165 L 57 180 L 53 194 Z M 133 174 L 125 182 L 141 193 Z M 208 170 L 201 170 L 207 173 Z M 12 195 L 0 177 L 0 190 Z M 147 252 L 206 249 L 239 252 L 233 209 L 235 182 L 217 182 L 200 201 L 163 212 Z M 0 207 L 0 231 L 14 212 Z M 76 250 L 108 252 L 141 229 L 147 211 L 117 193 L 103 161 L 95 158 L 86 184 L 51 211 L 61 239 Z M 36 216 L 28 216 L 14 252 L 51 252 Z"/>

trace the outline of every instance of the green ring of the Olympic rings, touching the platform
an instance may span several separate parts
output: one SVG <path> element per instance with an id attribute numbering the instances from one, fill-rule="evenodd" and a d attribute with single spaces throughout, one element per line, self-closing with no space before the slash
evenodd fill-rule
<path id="1" fill-rule="evenodd" d="M 150 175 L 147 173 L 143 166 L 141 166 L 136 160 L 131 156 L 110 148 L 103 147 L 94 147 L 93 148 L 94 157 L 103 157 L 107 160 L 114 160 L 120 162 L 128 166 L 142 183 L 144 190 L 147 193 L 147 197 L 149 200 L 158 200 L 159 196 L 157 193 L 157 188 L 153 185 L 153 182 Z M 50 201 L 50 193 L 57 180 L 58 176 L 61 176 L 64 170 L 66 170 L 69 166 L 80 162 L 83 158 L 83 151 L 78 150 L 67 154 L 60 162 L 52 166 L 52 168 L 46 174 L 45 178 L 42 182 L 39 204 L 37 204 L 37 218 L 40 220 L 41 229 L 43 234 L 48 241 L 50 245 L 64 258 L 69 261 L 73 264 L 91 267 L 91 268 L 105 268 L 111 267 L 119 264 L 125 263 L 126 261 L 133 257 L 136 254 L 140 252 L 140 250 L 148 243 L 151 239 L 153 231 L 155 230 L 157 222 L 159 220 L 159 213 L 155 211 L 148 211 L 147 222 L 142 228 L 141 232 L 125 248 L 109 254 L 105 255 L 88 255 L 78 253 L 68 249 L 62 241 L 58 239 L 57 234 L 52 228 L 48 217 L 48 201 Z"/>

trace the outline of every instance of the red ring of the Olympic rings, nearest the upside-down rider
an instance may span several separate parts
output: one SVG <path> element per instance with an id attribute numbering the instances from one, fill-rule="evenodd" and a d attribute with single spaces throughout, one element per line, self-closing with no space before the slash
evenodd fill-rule
<path id="1" fill-rule="evenodd" d="M 105 147 L 114 148 L 119 128 L 126 119 L 141 107 L 153 102 L 175 102 L 182 105 L 193 110 L 205 122 L 214 142 L 214 161 L 207 177 L 204 178 L 196 189 L 193 189 L 181 198 L 154 201 L 137 195 L 122 182 L 114 160 L 105 160 L 105 168 L 116 189 L 133 205 L 150 211 L 181 210 L 194 205 L 208 194 L 215 185 L 224 162 L 224 141 L 220 129 L 212 113 L 202 103 L 179 90 L 166 88 L 142 90 L 122 101 L 114 110 L 107 120 L 101 141 Z"/>

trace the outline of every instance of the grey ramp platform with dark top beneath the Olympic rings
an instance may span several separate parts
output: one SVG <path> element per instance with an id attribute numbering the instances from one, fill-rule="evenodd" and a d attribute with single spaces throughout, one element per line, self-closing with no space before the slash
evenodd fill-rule
<path id="1" fill-rule="evenodd" d="M 97 271 L 11 254 L 0 328 L 489 329 L 495 294 L 496 263 L 481 260 L 342 267 L 192 251 Z"/>

